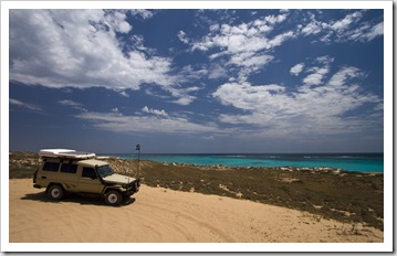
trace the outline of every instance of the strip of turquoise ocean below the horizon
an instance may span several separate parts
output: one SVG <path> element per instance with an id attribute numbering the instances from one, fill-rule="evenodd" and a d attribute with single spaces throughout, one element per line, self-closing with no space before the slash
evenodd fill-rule
<path id="1" fill-rule="evenodd" d="M 121 159 L 137 159 L 137 153 L 113 153 Z M 354 172 L 384 172 L 383 153 L 142 153 L 142 160 L 229 167 L 335 168 Z"/>

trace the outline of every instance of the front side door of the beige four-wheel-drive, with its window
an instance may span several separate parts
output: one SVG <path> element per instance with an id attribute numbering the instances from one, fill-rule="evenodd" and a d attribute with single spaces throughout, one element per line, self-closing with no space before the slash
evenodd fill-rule
<path id="1" fill-rule="evenodd" d="M 103 184 L 92 167 L 81 167 L 79 180 L 79 192 L 81 193 L 102 193 Z"/>

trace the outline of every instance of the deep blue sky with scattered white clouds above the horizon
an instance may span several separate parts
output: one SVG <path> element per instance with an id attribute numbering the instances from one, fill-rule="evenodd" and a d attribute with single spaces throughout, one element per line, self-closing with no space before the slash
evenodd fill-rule
<path id="1" fill-rule="evenodd" d="M 10 10 L 10 150 L 383 152 L 384 10 Z"/>

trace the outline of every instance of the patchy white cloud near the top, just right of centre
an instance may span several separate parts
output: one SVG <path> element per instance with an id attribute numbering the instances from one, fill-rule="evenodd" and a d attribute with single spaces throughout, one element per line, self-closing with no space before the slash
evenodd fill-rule
<path id="1" fill-rule="evenodd" d="M 236 25 L 212 23 L 206 36 L 190 40 L 184 33 L 182 40 L 185 43 L 190 42 L 191 51 L 211 51 L 210 60 L 224 58 L 226 66 L 238 68 L 236 78 L 245 81 L 250 74 L 258 72 L 273 60 L 270 52 L 272 49 L 294 38 L 293 31 L 270 35 L 274 26 L 282 23 L 286 15 L 286 13 L 267 15 Z"/>

